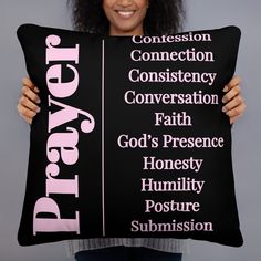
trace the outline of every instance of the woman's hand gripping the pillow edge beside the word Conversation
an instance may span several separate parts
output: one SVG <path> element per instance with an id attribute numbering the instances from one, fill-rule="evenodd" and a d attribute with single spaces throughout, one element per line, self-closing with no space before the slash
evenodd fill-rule
<path id="1" fill-rule="evenodd" d="M 242 116 L 246 111 L 246 104 L 241 95 L 240 88 L 241 79 L 239 76 L 233 76 L 232 80 L 225 86 L 222 102 L 225 106 L 222 112 L 226 113 L 230 118 L 230 124 L 236 123 L 236 121 Z"/>

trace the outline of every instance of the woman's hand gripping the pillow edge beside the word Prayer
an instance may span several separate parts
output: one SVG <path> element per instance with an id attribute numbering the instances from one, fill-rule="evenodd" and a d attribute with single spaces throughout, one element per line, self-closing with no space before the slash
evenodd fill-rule
<path id="1" fill-rule="evenodd" d="M 39 88 L 29 77 L 22 80 L 21 97 L 18 101 L 18 113 L 29 124 L 33 117 L 40 112 L 40 98 L 38 96 Z"/>

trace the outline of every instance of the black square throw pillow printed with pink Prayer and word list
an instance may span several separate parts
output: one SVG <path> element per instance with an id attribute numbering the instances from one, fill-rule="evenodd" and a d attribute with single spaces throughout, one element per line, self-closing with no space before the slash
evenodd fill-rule
<path id="1" fill-rule="evenodd" d="M 40 88 L 21 246 L 181 238 L 239 247 L 222 88 L 240 30 L 98 36 L 23 24 Z"/>

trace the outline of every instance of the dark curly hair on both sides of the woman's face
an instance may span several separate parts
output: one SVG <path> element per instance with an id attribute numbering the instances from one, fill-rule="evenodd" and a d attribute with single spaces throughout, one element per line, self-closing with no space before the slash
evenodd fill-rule
<path id="1" fill-rule="evenodd" d="M 106 35 L 109 23 L 103 10 L 103 0 L 69 0 L 75 30 Z M 182 0 L 149 0 L 144 20 L 148 35 L 174 34 L 180 31 L 185 17 Z"/>

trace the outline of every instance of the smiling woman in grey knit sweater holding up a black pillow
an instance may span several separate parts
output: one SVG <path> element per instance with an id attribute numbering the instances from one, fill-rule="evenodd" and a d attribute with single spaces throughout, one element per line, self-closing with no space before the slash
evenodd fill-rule
<path id="1" fill-rule="evenodd" d="M 71 3 L 75 29 L 103 35 L 174 34 L 184 17 L 181 0 L 71 0 Z M 222 111 L 231 124 L 246 109 L 239 84 L 240 79 L 234 76 L 223 88 Z M 40 112 L 39 90 L 28 77 L 22 85 L 18 112 L 31 124 Z M 186 249 L 184 240 L 156 238 L 73 240 L 69 244 L 77 261 L 180 261 Z"/>

